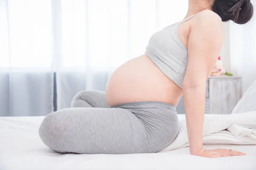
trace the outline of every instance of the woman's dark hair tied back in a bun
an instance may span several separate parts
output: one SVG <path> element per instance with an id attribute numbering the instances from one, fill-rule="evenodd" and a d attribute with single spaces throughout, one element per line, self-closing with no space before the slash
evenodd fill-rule
<path id="1" fill-rule="evenodd" d="M 223 22 L 232 20 L 245 24 L 253 17 L 253 4 L 250 0 L 214 0 L 212 11 L 217 13 Z"/>

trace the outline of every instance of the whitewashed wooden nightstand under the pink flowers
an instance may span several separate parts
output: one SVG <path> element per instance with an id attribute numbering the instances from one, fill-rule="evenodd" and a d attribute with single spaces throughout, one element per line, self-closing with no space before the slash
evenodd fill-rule
<path id="1" fill-rule="evenodd" d="M 242 97 L 241 77 L 209 77 L 205 97 L 206 114 L 230 114 Z"/>

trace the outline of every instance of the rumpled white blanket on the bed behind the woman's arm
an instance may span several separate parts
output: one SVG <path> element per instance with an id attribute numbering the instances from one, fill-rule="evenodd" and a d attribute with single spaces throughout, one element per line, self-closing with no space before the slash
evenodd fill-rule
<path id="1" fill-rule="evenodd" d="M 175 140 L 162 151 L 189 146 L 186 120 L 181 120 Z M 206 117 L 203 131 L 204 144 L 256 144 L 256 111 Z"/>

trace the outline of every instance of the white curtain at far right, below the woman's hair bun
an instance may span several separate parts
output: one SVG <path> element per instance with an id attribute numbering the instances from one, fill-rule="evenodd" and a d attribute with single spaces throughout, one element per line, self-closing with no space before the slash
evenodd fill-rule
<path id="1" fill-rule="evenodd" d="M 254 16 L 249 23 L 230 22 L 231 72 L 242 77 L 243 94 L 256 80 L 256 0 L 251 0 Z"/>

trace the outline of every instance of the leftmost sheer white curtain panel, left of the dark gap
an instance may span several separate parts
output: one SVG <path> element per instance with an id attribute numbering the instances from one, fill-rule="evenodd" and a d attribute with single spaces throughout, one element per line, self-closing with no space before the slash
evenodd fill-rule
<path id="1" fill-rule="evenodd" d="M 52 109 L 50 0 L 0 0 L 0 116 Z"/>

